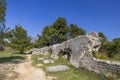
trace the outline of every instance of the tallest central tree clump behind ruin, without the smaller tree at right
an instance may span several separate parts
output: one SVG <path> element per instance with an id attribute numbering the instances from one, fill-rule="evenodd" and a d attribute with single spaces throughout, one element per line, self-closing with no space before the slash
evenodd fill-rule
<path id="1" fill-rule="evenodd" d="M 45 26 L 42 34 L 36 40 L 36 45 L 38 47 L 44 47 L 66 41 L 68 31 L 69 27 L 67 26 L 66 19 L 59 17 L 53 25 Z"/>

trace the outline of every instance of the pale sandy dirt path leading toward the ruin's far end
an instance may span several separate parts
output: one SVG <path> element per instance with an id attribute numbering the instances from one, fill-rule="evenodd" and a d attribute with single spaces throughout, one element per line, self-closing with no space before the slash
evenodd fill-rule
<path id="1" fill-rule="evenodd" d="M 42 69 L 31 65 L 31 55 L 27 55 L 27 61 L 15 66 L 15 71 L 19 76 L 15 80 L 48 80 Z"/>

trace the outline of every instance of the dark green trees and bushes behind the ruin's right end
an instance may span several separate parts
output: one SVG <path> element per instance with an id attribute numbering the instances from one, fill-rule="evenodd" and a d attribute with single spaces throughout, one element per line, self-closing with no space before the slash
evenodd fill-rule
<path id="1" fill-rule="evenodd" d="M 107 55 L 107 57 L 109 58 L 114 57 L 118 60 L 118 57 L 116 57 L 116 55 L 120 56 L 120 38 L 115 38 L 113 39 L 112 42 L 109 42 L 102 32 L 99 32 L 98 35 L 99 37 L 101 37 L 102 41 L 102 45 L 101 48 L 99 49 L 99 52 L 102 55 Z"/>

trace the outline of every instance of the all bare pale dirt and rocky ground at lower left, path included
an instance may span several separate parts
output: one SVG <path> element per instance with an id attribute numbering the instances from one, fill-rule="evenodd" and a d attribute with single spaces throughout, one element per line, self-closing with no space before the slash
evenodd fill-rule
<path id="1" fill-rule="evenodd" d="M 24 62 L 0 64 L 0 80 L 53 80 L 42 69 L 33 67 L 31 62 L 31 55 L 27 55 Z"/>

